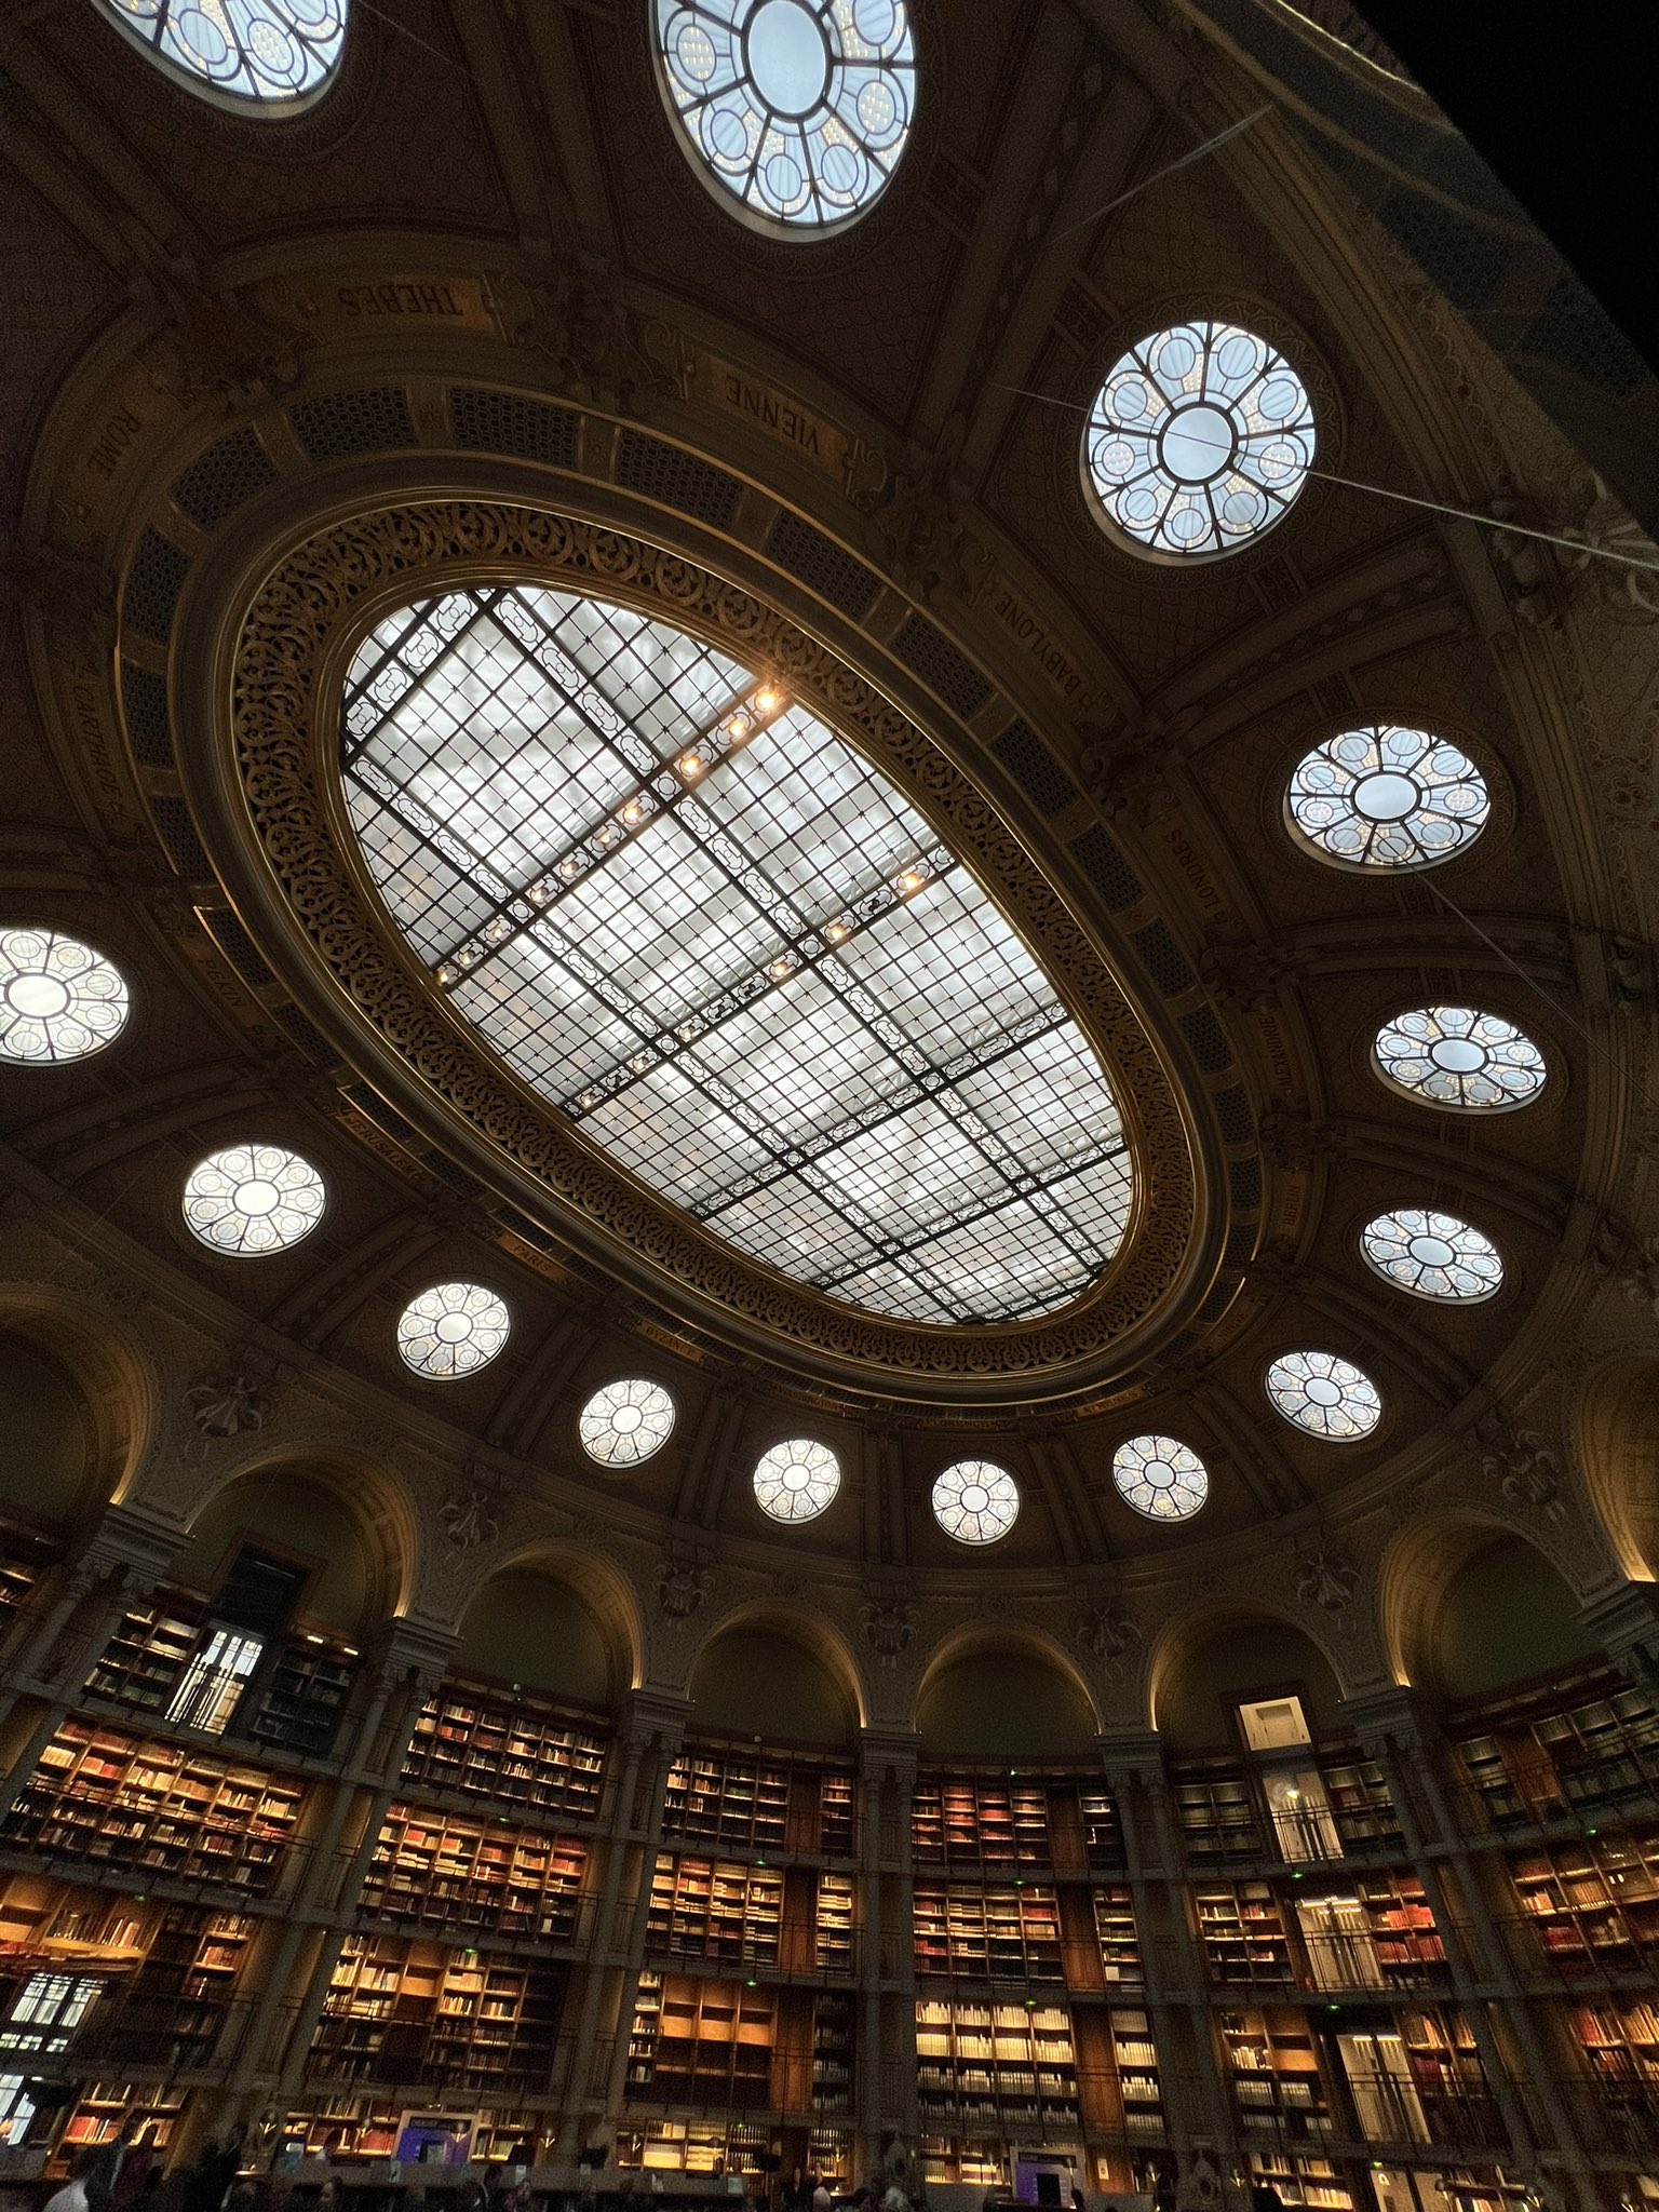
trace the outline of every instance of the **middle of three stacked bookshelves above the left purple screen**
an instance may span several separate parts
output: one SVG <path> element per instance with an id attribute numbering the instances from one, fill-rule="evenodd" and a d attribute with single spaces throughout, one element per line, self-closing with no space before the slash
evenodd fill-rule
<path id="1" fill-rule="evenodd" d="M 361 1909 L 467 1933 L 568 1942 L 588 1847 L 542 1829 L 480 1827 L 409 1805 L 387 1809 Z"/>

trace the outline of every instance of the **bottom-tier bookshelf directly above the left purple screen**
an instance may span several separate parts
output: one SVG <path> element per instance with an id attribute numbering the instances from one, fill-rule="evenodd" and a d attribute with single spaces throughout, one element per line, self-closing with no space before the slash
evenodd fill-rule
<path id="1" fill-rule="evenodd" d="M 566 1969 L 546 1960 L 347 1936 L 307 2075 L 431 2086 L 471 2099 L 542 2093 Z"/>

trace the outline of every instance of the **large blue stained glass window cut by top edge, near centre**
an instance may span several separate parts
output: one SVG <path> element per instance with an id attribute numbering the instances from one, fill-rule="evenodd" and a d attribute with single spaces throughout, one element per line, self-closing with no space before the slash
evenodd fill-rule
<path id="1" fill-rule="evenodd" d="M 905 0 L 657 0 L 657 55 L 692 159 L 763 221 L 852 221 L 905 150 Z"/>

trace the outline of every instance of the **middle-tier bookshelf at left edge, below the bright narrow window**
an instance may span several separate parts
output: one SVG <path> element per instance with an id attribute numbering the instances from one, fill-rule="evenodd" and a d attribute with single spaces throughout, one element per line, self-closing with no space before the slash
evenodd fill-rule
<path id="1" fill-rule="evenodd" d="M 0 1827 L 0 1843 L 131 1874 L 268 1896 L 294 1840 L 303 1785 L 64 1721 Z"/>

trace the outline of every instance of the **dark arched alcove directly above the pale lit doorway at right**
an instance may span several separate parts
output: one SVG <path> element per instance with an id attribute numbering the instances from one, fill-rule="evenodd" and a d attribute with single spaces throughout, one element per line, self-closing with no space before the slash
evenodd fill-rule
<path id="1" fill-rule="evenodd" d="M 1232 1606 L 1177 1621 L 1152 1659 L 1152 1725 L 1175 1752 L 1239 1747 L 1239 1705 L 1292 1694 L 1314 1736 L 1340 1730 L 1343 1688 L 1292 1621 Z"/>

